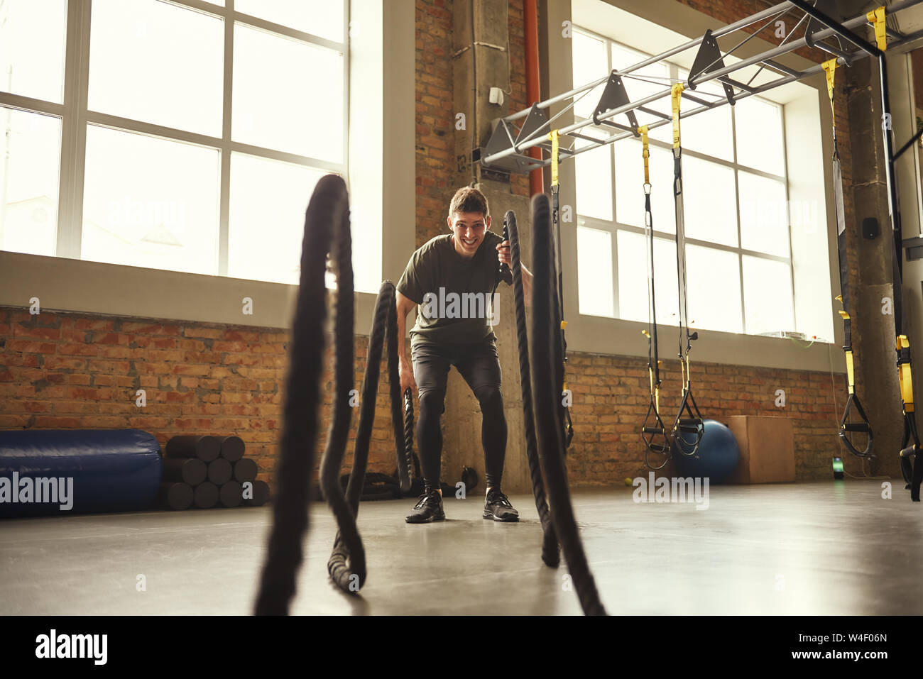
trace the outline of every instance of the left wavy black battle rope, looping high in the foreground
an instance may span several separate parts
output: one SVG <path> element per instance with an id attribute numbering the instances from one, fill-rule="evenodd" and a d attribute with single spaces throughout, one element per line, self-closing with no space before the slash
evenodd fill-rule
<path id="1" fill-rule="evenodd" d="M 402 486 L 410 484 L 409 461 L 405 457 L 407 448 L 402 440 L 401 387 L 396 367 L 397 313 L 394 306 L 394 286 L 390 281 L 382 283 L 376 304 L 367 366 L 367 371 L 371 371 L 375 379 L 371 379 L 372 375 L 366 372 L 353 474 L 345 496 L 337 482 L 337 472 L 342 463 L 352 415 L 349 399 L 354 369 L 354 302 L 349 199 L 342 178 L 329 174 L 318 181 L 306 211 L 301 280 L 295 306 L 289 371 L 286 377 L 278 472 L 279 490 L 273 504 L 273 526 L 267 559 L 260 578 L 257 614 L 288 613 L 295 592 L 297 572 L 303 560 L 301 545 L 308 526 L 308 489 L 314 471 L 320 376 L 326 345 L 325 264 L 328 253 L 331 254 L 337 279 L 334 307 L 334 393 L 338 397 L 333 399 L 333 419 L 324 459 L 321 462 L 321 483 L 340 528 L 330 557 L 330 576 L 343 590 L 358 590 L 366 578 L 365 551 L 355 526 L 355 512 L 358 509 L 358 494 L 363 486 L 369 428 L 375 414 L 382 345 L 380 338 L 385 320 L 388 321 L 389 330 L 391 413 L 395 440 L 398 444 L 398 469 L 402 476 Z"/>

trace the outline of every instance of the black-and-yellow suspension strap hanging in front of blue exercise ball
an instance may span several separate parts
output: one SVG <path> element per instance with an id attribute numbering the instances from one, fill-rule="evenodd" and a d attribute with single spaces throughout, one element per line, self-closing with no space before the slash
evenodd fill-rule
<path id="1" fill-rule="evenodd" d="M 689 332 L 688 298 L 686 295 L 686 227 L 683 221 L 683 171 L 682 145 L 679 141 L 679 104 L 682 100 L 683 85 L 676 83 L 671 88 L 670 100 L 673 105 L 673 198 L 677 212 L 677 288 L 679 295 L 679 368 L 682 372 L 683 398 L 679 402 L 677 419 L 673 423 L 673 440 L 683 455 L 696 454 L 705 433 L 699 406 L 692 396 L 692 379 L 689 372 L 689 351 L 692 340 L 699 339 L 698 332 Z M 685 338 L 684 338 L 685 335 Z M 683 340 L 686 346 L 683 347 Z M 683 417 L 683 413 L 687 417 Z M 684 434 L 695 435 L 691 443 Z"/>

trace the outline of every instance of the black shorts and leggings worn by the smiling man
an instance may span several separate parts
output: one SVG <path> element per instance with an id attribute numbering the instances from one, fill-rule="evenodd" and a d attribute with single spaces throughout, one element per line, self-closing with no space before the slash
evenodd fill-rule
<path id="1" fill-rule="evenodd" d="M 418 344 L 411 350 L 411 356 L 420 399 L 416 441 L 426 485 L 440 487 L 442 429 L 439 418 L 446 411 L 446 384 L 450 366 L 454 365 L 481 404 L 485 483 L 488 488 L 499 488 L 507 453 L 507 419 L 500 393 L 502 373 L 497 347 L 492 341 L 440 346 Z"/>

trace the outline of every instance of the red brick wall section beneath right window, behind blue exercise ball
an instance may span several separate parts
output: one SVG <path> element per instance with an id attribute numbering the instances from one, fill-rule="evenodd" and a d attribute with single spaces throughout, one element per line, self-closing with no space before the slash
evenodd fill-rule
<path id="1" fill-rule="evenodd" d="M 845 375 L 694 361 L 691 365 L 692 394 L 705 418 L 721 422 L 728 415 L 769 415 L 793 421 L 798 480 L 829 479 L 831 458 L 848 457 L 837 436 Z M 638 432 L 649 403 L 648 379 L 646 359 L 569 353 L 571 482 L 607 484 L 644 471 Z M 664 361 L 661 379 L 662 417 L 672 421 L 679 407 L 679 362 Z M 775 406 L 776 389 L 785 390 L 785 408 Z M 846 465 L 848 471 L 861 473 L 854 460 L 847 459 Z"/>

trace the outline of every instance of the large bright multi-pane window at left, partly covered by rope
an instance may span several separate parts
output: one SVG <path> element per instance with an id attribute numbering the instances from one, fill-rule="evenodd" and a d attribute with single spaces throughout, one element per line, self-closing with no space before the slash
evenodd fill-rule
<path id="1" fill-rule="evenodd" d="M 0 249 L 297 283 L 346 0 L 0 0 Z"/>

